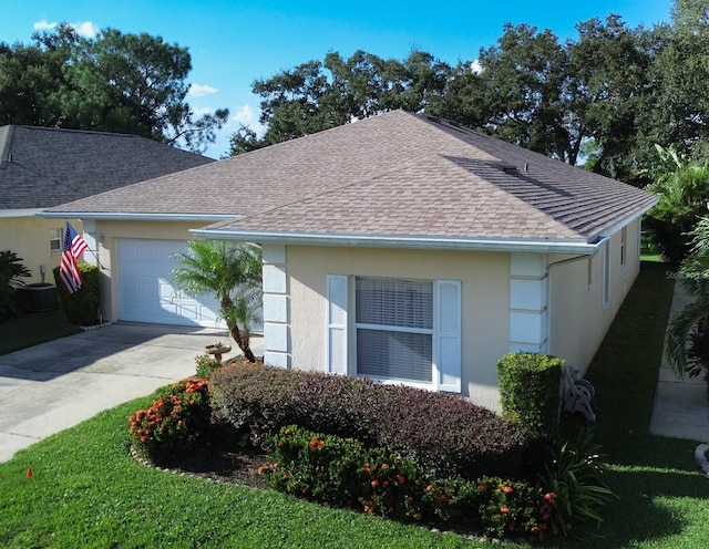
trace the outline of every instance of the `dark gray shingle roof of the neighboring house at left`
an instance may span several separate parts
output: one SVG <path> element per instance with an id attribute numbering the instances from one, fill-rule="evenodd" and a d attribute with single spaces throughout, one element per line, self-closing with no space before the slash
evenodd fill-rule
<path id="1" fill-rule="evenodd" d="M 0 210 L 48 208 L 213 163 L 144 137 L 0 127 Z"/>

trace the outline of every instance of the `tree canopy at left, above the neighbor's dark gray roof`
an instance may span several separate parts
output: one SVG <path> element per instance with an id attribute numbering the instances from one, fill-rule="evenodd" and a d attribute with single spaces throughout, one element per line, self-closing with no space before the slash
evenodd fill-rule
<path id="1" fill-rule="evenodd" d="M 186 48 L 105 29 L 94 39 L 68 24 L 33 43 L 0 43 L 0 124 L 130 133 L 203 152 L 228 117 L 197 117 L 185 101 Z"/>

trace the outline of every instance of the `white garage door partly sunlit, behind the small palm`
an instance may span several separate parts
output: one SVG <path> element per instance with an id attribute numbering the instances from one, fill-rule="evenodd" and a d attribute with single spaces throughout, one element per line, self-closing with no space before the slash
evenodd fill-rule
<path id="1" fill-rule="evenodd" d="M 117 241 L 119 318 L 130 322 L 224 328 L 212 296 L 189 296 L 175 290 L 172 271 L 179 240 L 120 239 Z"/>

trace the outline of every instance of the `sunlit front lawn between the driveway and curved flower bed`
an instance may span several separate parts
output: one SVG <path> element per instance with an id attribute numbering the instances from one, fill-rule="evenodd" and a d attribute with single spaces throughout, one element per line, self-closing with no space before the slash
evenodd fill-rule
<path id="1" fill-rule="evenodd" d="M 470 547 L 452 534 L 141 465 L 127 450 L 126 417 L 151 401 L 101 413 L 0 465 L 0 547 Z"/>

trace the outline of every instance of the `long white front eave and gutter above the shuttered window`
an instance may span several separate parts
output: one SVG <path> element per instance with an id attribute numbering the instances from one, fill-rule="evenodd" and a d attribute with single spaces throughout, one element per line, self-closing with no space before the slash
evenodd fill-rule
<path id="1" fill-rule="evenodd" d="M 585 239 L 533 239 L 492 237 L 421 237 L 398 235 L 342 235 L 311 232 L 279 232 L 258 230 L 191 229 L 198 238 L 237 240 L 258 244 L 304 246 L 352 246 L 368 248 L 409 248 L 427 250 L 528 251 L 537 253 L 576 253 L 593 256 L 598 242 Z"/>

